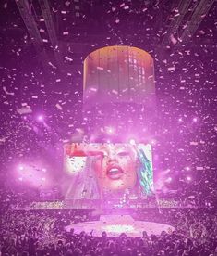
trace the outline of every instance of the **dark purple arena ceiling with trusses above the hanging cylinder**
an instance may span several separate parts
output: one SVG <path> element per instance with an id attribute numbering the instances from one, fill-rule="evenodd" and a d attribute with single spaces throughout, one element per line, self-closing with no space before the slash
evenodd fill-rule
<path id="1" fill-rule="evenodd" d="M 5 2 L 5 3 L 4 3 Z M 80 59 L 105 45 L 153 49 L 163 58 L 190 43 L 215 46 L 206 31 L 216 14 L 215 0 L 18 0 L 1 5 L 2 55 L 10 45 L 58 70 L 80 66 Z M 14 61 L 14 58 L 11 59 Z"/>

